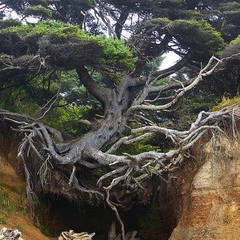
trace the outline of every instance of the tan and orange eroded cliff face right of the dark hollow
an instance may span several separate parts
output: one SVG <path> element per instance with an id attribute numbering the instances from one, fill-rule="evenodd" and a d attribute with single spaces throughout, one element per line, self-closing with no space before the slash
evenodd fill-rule
<path id="1" fill-rule="evenodd" d="M 211 139 L 206 161 L 182 186 L 182 211 L 170 240 L 240 239 L 240 140 Z"/>

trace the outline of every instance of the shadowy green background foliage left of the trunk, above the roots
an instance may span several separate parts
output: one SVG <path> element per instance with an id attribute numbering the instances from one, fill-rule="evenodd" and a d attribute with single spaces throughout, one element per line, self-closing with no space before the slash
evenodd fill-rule
<path id="1" fill-rule="evenodd" d="M 59 80 L 60 84 L 57 82 Z M 46 115 L 45 123 L 72 136 L 89 130 L 89 127 L 79 123 L 79 120 L 82 118 L 91 120 L 100 105 L 96 99 L 87 94 L 83 86 L 79 86 L 76 72 L 57 72 L 56 81 L 52 79 L 50 85 L 45 86 L 41 81 L 41 78 L 36 78 L 31 85 L 19 87 L 18 92 L 0 95 L 0 108 L 39 118 L 43 114 L 40 109 L 60 88 L 59 100 Z"/>

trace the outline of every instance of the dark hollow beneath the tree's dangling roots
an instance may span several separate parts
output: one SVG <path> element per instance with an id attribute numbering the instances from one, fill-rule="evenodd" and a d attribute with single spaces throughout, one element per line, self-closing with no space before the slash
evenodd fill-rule
<path id="1" fill-rule="evenodd" d="M 125 230 L 137 230 L 141 240 L 167 240 L 176 226 L 172 193 L 157 194 L 150 204 L 135 206 L 131 210 L 119 210 Z M 75 202 L 52 194 L 40 198 L 37 218 L 41 230 L 57 237 L 62 231 L 95 232 L 94 240 L 107 240 L 111 224 L 115 221 L 117 233 L 120 226 L 112 210 L 105 205 L 79 206 Z M 169 203 L 171 205 L 169 205 Z"/>

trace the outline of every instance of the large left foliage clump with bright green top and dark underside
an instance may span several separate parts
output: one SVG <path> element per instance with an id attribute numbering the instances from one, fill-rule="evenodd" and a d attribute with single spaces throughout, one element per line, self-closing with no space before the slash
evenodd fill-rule
<path id="1" fill-rule="evenodd" d="M 16 47 L 16 55 L 39 52 L 49 56 L 51 64 L 73 69 L 76 64 L 97 67 L 103 65 L 111 71 L 131 70 L 135 59 L 123 41 L 104 37 L 89 36 L 78 26 L 67 25 L 58 21 L 39 22 L 35 26 L 22 25 L 0 31 L 0 51 L 10 54 L 6 47 L 8 39 Z M 15 52 L 12 52 L 15 55 Z"/>

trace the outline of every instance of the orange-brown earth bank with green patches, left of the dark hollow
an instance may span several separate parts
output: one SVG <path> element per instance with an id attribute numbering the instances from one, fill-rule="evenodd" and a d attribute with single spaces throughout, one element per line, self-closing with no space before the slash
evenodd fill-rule
<path id="1" fill-rule="evenodd" d="M 26 184 L 4 157 L 0 157 L 0 229 L 18 229 L 24 240 L 49 240 L 35 227 L 28 212 Z"/>

